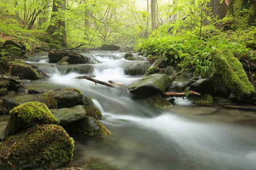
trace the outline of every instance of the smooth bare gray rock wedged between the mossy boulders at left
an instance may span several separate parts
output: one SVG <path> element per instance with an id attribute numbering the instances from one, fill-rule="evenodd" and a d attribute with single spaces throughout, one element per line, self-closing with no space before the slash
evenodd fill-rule
<path id="1" fill-rule="evenodd" d="M 71 108 L 50 109 L 50 111 L 60 122 L 60 126 L 81 120 L 86 116 L 86 111 L 82 105 L 76 105 Z"/>

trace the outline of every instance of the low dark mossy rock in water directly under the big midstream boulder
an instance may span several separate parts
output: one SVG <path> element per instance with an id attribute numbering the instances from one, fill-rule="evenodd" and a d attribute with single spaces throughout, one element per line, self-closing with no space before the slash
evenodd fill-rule
<path id="1" fill-rule="evenodd" d="M 157 109 L 170 109 L 172 104 L 163 99 L 161 95 L 148 96 L 146 99 L 139 100 L 141 103 L 148 104 Z"/>

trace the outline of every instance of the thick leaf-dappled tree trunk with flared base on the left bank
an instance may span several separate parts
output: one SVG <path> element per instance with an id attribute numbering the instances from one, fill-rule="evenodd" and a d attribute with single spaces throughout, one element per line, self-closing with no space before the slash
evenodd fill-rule
<path id="1" fill-rule="evenodd" d="M 53 37 L 53 39 L 60 41 L 61 45 L 67 48 L 68 42 L 66 24 L 64 20 L 65 7 L 66 0 L 53 0 L 51 24 L 47 28 L 47 32 Z"/>

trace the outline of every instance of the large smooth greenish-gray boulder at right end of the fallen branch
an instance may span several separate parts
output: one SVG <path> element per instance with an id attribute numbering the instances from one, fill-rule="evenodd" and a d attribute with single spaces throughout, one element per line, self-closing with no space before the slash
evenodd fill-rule
<path id="1" fill-rule="evenodd" d="M 151 74 L 145 78 L 135 80 L 129 84 L 128 89 L 131 94 L 154 95 L 163 94 L 175 78 L 170 78 L 166 74 Z"/>

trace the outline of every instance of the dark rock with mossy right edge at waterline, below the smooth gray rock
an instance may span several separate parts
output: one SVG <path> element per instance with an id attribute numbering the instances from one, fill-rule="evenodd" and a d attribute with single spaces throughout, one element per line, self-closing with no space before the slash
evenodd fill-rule
<path id="1" fill-rule="evenodd" d="M 63 127 L 71 137 L 80 139 L 100 140 L 111 134 L 100 121 L 90 116 Z"/>

